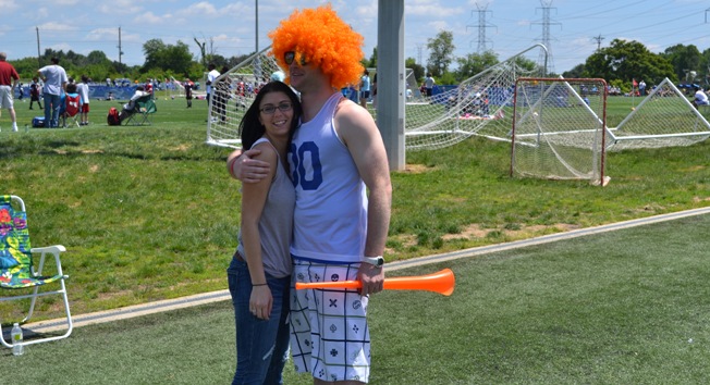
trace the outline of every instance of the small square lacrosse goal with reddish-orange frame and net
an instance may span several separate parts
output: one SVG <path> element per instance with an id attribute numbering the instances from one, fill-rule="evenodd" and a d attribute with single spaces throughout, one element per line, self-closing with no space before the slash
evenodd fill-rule
<path id="1" fill-rule="evenodd" d="M 516 79 L 511 176 L 605 185 L 607 95 L 601 78 Z"/>

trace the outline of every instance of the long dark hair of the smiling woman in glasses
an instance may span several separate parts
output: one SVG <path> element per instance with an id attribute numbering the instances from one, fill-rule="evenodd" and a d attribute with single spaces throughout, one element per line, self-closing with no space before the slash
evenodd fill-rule
<path id="1" fill-rule="evenodd" d="M 282 82 L 269 82 L 267 83 L 259 92 L 256 95 L 256 99 L 246 110 L 242 122 L 240 122 L 240 131 L 242 132 L 242 148 L 248 150 L 254 146 L 254 142 L 257 141 L 264 133 L 266 127 L 259 122 L 259 105 L 265 96 L 271 92 L 283 92 L 289 99 L 291 99 L 291 104 L 293 105 L 293 119 L 291 120 L 291 127 L 289 128 L 289 141 L 293 137 L 293 134 L 296 132 L 298 124 L 301 123 L 301 114 L 303 110 L 301 109 L 301 100 L 296 92 L 289 87 L 285 83 Z"/>

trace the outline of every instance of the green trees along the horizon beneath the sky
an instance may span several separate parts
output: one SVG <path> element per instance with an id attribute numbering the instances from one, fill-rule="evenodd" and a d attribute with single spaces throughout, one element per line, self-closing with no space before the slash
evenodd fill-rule
<path id="1" fill-rule="evenodd" d="M 232 69 L 254 54 L 249 52 L 225 58 L 216 52 L 211 42 L 209 47 L 207 41 L 200 42 L 195 39 L 195 42 L 200 49 L 199 58 L 195 58 L 187 44 L 183 41 L 179 40 L 170 45 L 161 39 L 150 39 L 143 45 L 145 62 L 142 65 L 126 65 L 112 61 L 100 50 L 83 55 L 71 50 L 64 52 L 46 49 L 40 58 L 24 58 L 9 60 L 9 62 L 15 66 L 23 79 L 34 77 L 38 69 L 50 64 L 50 59 L 57 57 L 70 76 L 86 75 L 95 82 L 102 82 L 106 78 L 163 79 L 170 76 L 182 80 L 185 77 L 200 79 L 209 63 L 213 63 L 218 69 L 222 66 Z M 449 30 L 441 30 L 433 38 L 428 39 L 427 48 L 429 58 L 426 67 L 418 64 L 414 58 L 405 60 L 405 66 L 414 71 L 418 82 L 430 72 L 438 84 L 455 85 L 500 62 L 498 54 L 492 50 L 456 58 L 453 53 L 455 50 L 453 33 Z M 456 66 L 452 70 L 454 63 Z M 537 65 L 529 60 L 523 60 L 522 64 L 528 69 Z M 369 59 L 363 60 L 363 65 L 377 67 L 377 48 Z M 558 76 L 558 74 L 548 74 L 548 76 Z M 710 85 L 710 49 L 700 52 L 694 45 L 676 45 L 666 48 L 663 52 L 654 53 L 638 41 L 614 39 L 609 47 L 600 48 L 584 63 L 563 72 L 562 76 L 600 77 L 622 90 L 631 88 L 632 79 L 638 82 L 644 79 L 648 85 L 653 85 L 665 77 L 676 84 L 697 83 L 707 87 Z"/>

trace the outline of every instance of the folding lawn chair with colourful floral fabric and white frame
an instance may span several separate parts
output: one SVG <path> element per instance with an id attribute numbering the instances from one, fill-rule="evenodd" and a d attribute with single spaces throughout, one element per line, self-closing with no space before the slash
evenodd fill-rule
<path id="1" fill-rule="evenodd" d="M 16 196 L 0 196 L 0 301 L 32 298 L 27 316 L 22 320 L 22 323 L 25 323 L 32 316 L 38 297 L 60 295 L 64 301 L 64 312 L 66 314 L 66 333 L 59 336 L 25 339 L 24 345 L 62 339 L 72 334 L 72 315 L 69 311 L 69 298 L 64 285 L 64 280 L 69 276 L 62 273 L 62 264 L 59 258 L 59 254 L 63 251 L 66 251 L 66 249 L 61 245 L 30 248 L 25 202 Z M 33 254 L 40 256 L 37 270 L 33 264 Z M 54 257 L 56 275 L 41 275 L 47 254 Z M 46 284 L 59 284 L 60 289 L 39 291 L 39 287 Z M 32 289 L 32 294 L 10 295 L 10 291 L 15 290 L 27 293 L 27 289 Z M 12 344 L 5 341 L 1 323 L 0 343 L 8 348 L 12 348 Z"/>

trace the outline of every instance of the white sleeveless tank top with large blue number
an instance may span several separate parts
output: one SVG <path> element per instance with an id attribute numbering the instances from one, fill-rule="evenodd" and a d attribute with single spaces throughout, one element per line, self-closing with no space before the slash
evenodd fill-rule
<path id="1" fill-rule="evenodd" d="M 311 121 L 302 123 L 289 150 L 296 186 L 296 259 L 359 262 L 367 235 L 367 195 L 347 148 L 333 127 L 342 95 L 333 94 Z"/>

